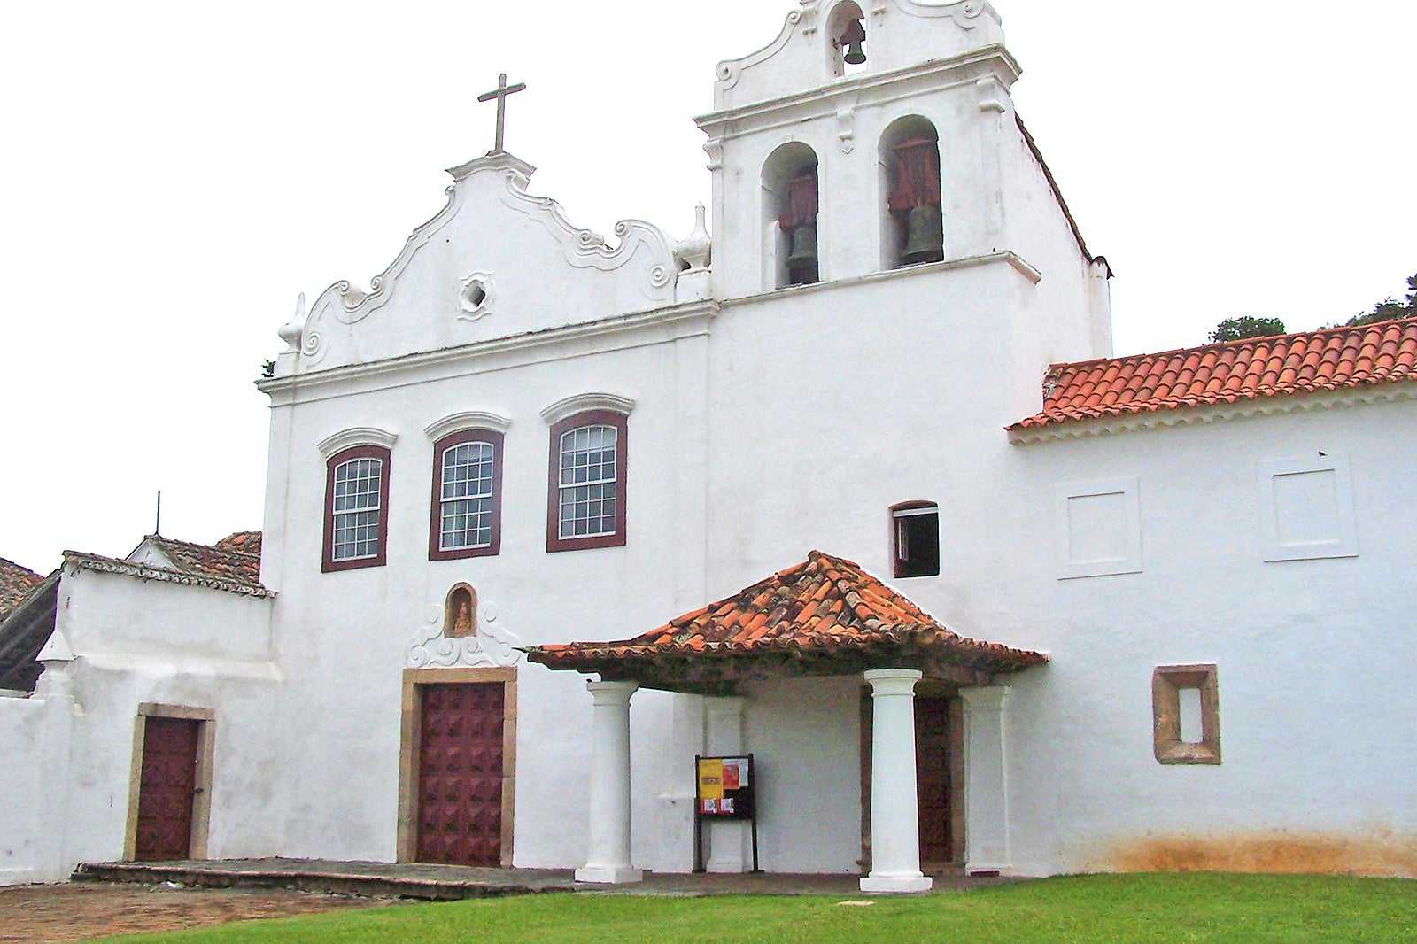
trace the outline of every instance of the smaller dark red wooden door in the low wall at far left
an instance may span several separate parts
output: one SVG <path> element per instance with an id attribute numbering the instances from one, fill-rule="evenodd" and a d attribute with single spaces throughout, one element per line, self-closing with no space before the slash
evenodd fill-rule
<path id="1" fill-rule="evenodd" d="M 200 733 L 201 721 L 176 717 L 149 717 L 145 721 L 133 846 L 133 858 L 139 862 L 171 862 L 191 856 Z"/>

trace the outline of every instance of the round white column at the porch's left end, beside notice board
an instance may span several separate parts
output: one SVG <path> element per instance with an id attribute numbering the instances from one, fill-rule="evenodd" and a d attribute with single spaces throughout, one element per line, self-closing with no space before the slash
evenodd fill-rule
<path id="1" fill-rule="evenodd" d="M 629 863 L 629 697 L 639 682 L 587 682 L 595 700 L 591 734 L 591 853 L 577 882 L 625 884 L 643 873 Z"/>

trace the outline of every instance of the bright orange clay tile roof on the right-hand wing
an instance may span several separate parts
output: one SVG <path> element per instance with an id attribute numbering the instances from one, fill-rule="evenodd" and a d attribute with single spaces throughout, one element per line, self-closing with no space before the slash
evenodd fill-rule
<path id="1" fill-rule="evenodd" d="M 1417 380 L 1417 318 L 1054 364 L 1043 412 L 1010 431 Z"/>

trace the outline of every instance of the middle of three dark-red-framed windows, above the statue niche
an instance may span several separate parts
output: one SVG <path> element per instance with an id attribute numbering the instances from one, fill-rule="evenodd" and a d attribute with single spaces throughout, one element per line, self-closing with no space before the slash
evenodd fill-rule
<path id="1" fill-rule="evenodd" d="M 502 551 L 502 445 L 495 429 L 459 429 L 434 444 L 428 560 Z"/>

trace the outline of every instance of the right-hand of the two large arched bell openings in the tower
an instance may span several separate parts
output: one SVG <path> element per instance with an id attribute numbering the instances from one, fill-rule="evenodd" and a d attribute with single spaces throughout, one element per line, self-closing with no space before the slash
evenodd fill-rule
<path id="1" fill-rule="evenodd" d="M 891 122 L 880 140 L 881 268 L 945 258 L 939 132 L 928 118 Z"/>

